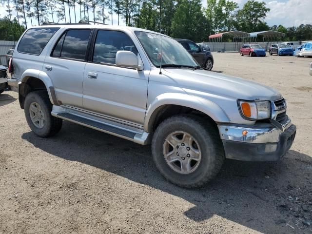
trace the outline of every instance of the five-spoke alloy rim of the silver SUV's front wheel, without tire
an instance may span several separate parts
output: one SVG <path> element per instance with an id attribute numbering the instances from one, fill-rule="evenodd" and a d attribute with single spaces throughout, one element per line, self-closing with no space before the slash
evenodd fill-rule
<path id="1" fill-rule="evenodd" d="M 201 159 L 196 139 L 183 131 L 173 132 L 166 137 L 163 154 L 170 168 L 180 174 L 194 172 Z"/>

